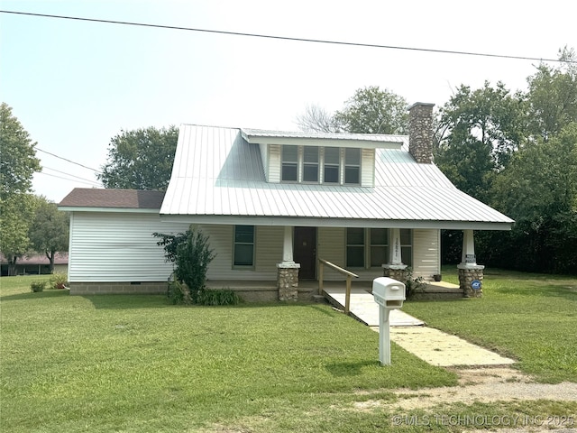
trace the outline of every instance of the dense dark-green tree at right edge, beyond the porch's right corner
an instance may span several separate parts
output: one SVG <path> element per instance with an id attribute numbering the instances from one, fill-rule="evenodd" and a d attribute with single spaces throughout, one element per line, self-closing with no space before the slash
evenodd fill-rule
<path id="1" fill-rule="evenodd" d="M 577 122 L 517 152 L 494 185 L 494 205 L 516 219 L 498 259 L 525 271 L 577 272 Z"/>

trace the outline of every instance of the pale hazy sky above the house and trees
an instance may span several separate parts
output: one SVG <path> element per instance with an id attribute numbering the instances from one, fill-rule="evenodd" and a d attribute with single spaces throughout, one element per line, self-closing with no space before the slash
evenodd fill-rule
<path id="1" fill-rule="evenodd" d="M 577 48 L 566 0 L 2 0 L 0 9 L 536 59 Z M 57 203 L 102 188 L 96 172 L 122 131 L 298 131 L 307 105 L 334 112 L 359 88 L 438 107 L 485 80 L 526 90 L 538 63 L 0 13 L 0 100 L 37 143 L 33 192 Z"/>

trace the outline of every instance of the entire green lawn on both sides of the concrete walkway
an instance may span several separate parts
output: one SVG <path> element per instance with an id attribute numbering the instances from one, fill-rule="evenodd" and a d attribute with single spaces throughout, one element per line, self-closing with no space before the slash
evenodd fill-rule
<path id="1" fill-rule="evenodd" d="M 394 344 L 392 365 L 381 367 L 377 333 L 324 305 L 175 307 L 162 296 L 32 293 L 34 280 L 0 279 L 2 431 L 387 431 L 398 412 L 355 410 L 355 403 L 395 401 L 388 390 L 400 386 L 456 383 L 454 373 Z M 541 380 L 577 382 L 576 286 L 575 279 L 488 275 L 483 299 L 406 302 L 405 309 L 520 359 Z M 551 407 L 532 406 L 544 415 Z M 577 413 L 577 403 L 554 408 Z"/>

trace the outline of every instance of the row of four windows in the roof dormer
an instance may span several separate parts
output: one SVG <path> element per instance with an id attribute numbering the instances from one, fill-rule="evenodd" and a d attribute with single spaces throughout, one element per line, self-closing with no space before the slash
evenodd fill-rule
<path id="1" fill-rule="evenodd" d="M 283 182 L 361 183 L 361 149 L 283 145 L 281 155 Z"/>

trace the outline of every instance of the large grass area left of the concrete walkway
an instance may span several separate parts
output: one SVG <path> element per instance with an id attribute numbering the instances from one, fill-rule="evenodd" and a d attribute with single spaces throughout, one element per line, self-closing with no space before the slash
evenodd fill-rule
<path id="1" fill-rule="evenodd" d="M 32 293 L 31 281 L 0 281 L 3 431 L 269 418 L 265 431 L 294 431 L 309 410 L 309 431 L 339 431 L 313 414 L 366 398 L 360 390 L 390 399 L 389 388 L 456 382 L 396 345 L 381 367 L 377 334 L 328 306 L 175 307 L 162 296 Z"/>

